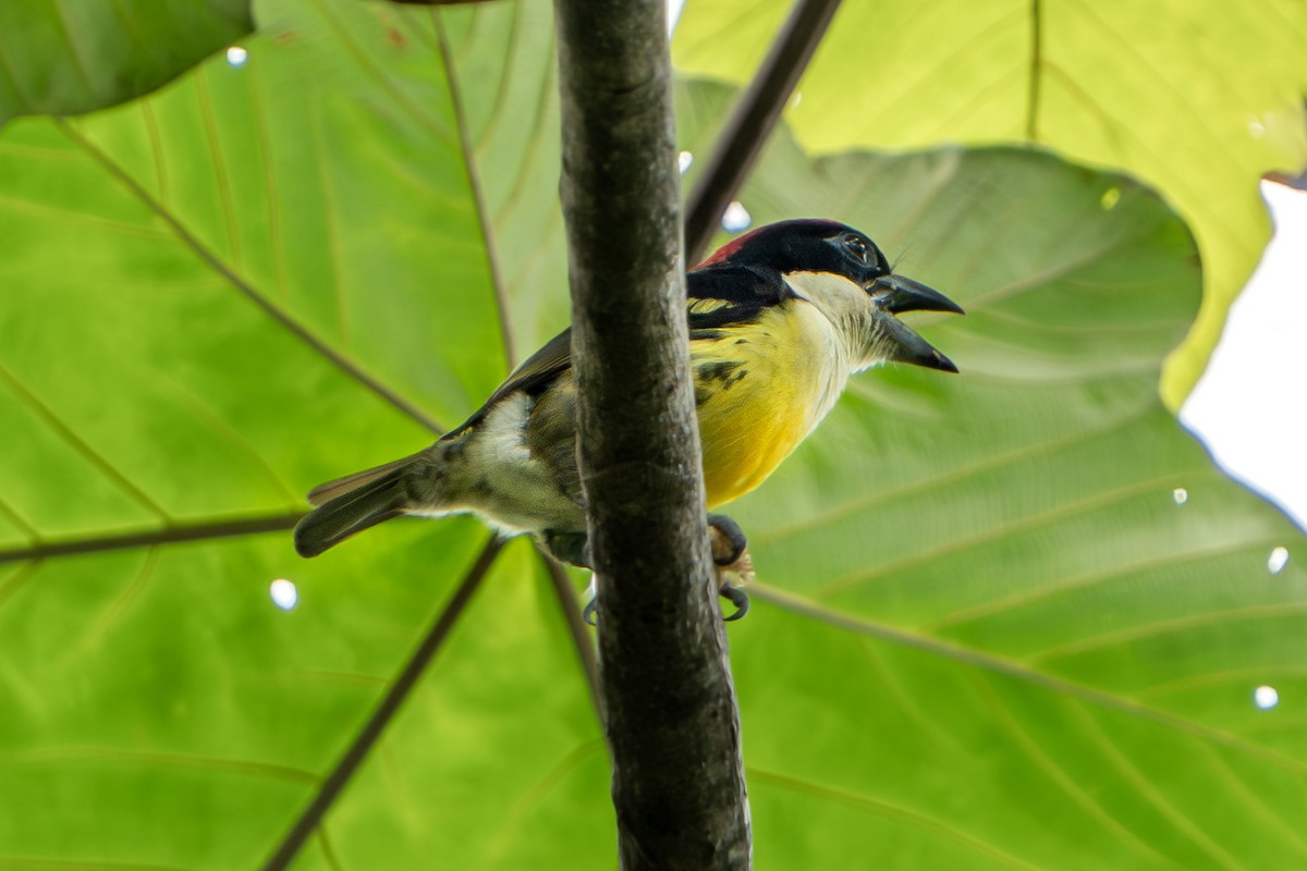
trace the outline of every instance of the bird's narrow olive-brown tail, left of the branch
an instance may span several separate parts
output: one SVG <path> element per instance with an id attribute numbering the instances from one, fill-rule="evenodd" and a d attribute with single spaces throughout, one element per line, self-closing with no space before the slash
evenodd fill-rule
<path id="1" fill-rule="evenodd" d="M 434 469 L 423 451 L 375 469 L 328 481 L 314 487 L 308 504 L 316 508 L 295 524 L 295 550 L 318 556 L 350 535 L 426 507 Z"/>

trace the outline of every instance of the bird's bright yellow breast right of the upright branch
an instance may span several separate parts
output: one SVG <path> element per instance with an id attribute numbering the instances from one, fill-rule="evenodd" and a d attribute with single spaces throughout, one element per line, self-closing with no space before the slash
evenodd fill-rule
<path id="1" fill-rule="evenodd" d="M 761 484 L 834 405 L 848 379 L 829 321 L 786 303 L 745 326 L 704 330 L 690 363 L 708 508 Z"/>

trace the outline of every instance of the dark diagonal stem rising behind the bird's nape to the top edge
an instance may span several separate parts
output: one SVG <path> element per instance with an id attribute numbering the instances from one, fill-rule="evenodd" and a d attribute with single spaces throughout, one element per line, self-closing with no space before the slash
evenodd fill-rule
<path id="1" fill-rule="evenodd" d="M 708 249 L 721 213 L 749 176 L 838 8 L 839 0 L 795 3 L 686 200 L 686 262 L 698 262 Z"/>

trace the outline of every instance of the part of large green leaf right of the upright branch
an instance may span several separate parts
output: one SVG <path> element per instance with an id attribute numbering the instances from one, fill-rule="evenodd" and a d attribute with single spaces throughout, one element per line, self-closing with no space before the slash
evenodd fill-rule
<path id="1" fill-rule="evenodd" d="M 687 133 L 723 116 L 685 97 Z M 1266 569 L 1302 535 L 1155 393 L 1199 296 L 1183 225 L 1047 155 L 808 166 L 784 137 L 741 201 L 759 222 L 839 214 L 967 308 L 914 321 L 961 377 L 860 376 L 732 512 L 776 606 L 732 633 L 759 854 L 1307 859 L 1302 721 L 1252 704 L 1263 683 L 1307 689 L 1307 572 Z"/>

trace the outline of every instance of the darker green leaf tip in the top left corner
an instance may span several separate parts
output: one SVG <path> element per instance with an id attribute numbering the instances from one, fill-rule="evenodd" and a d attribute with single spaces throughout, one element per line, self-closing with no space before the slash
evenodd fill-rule
<path id="1" fill-rule="evenodd" d="M 16 0 L 0 5 L 0 125 L 146 94 L 254 27 L 250 0 Z"/>

